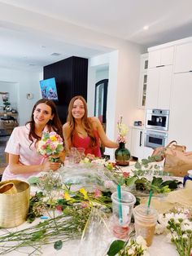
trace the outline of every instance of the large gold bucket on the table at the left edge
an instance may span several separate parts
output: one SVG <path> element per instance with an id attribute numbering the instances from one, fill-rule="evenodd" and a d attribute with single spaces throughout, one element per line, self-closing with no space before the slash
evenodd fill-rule
<path id="1" fill-rule="evenodd" d="M 6 180 L 0 187 L 7 183 L 14 183 L 16 193 L 0 193 L 0 227 L 16 227 L 24 223 L 28 214 L 30 187 L 21 180 Z"/>

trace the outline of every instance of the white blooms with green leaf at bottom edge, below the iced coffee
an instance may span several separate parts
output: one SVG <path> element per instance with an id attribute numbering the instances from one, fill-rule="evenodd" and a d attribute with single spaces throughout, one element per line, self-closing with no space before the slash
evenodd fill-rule
<path id="1" fill-rule="evenodd" d="M 107 252 L 108 256 L 148 256 L 146 241 L 142 236 L 137 236 L 134 240 L 130 238 L 129 241 L 113 241 L 110 249 Z"/>

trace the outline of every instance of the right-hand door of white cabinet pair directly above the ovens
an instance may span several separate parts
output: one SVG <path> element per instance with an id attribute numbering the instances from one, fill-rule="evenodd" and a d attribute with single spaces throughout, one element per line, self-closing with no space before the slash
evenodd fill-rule
<path id="1" fill-rule="evenodd" d="M 158 108 L 170 108 L 170 96 L 172 88 L 172 65 L 164 66 L 159 69 L 159 95 Z"/>

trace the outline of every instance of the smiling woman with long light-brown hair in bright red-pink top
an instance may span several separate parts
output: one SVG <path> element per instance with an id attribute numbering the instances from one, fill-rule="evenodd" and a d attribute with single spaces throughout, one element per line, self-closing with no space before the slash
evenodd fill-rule
<path id="1" fill-rule="evenodd" d="M 82 96 L 75 96 L 68 106 L 68 120 L 63 125 L 65 148 L 85 148 L 85 154 L 101 157 L 99 139 L 107 148 L 118 148 L 118 143 L 107 138 L 97 117 L 87 117 L 87 104 Z"/>

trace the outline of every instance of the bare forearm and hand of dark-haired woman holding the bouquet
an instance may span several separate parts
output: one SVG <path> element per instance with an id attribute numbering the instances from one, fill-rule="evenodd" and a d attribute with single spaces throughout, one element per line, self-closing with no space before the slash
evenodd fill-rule
<path id="1" fill-rule="evenodd" d="M 26 174 L 40 171 L 58 170 L 60 162 L 45 161 L 43 164 L 34 166 L 25 166 L 20 163 L 19 156 L 9 153 L 9 169 L 12 174 Z"/>

